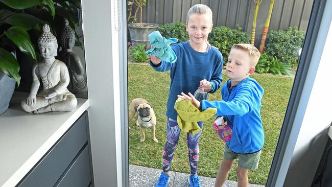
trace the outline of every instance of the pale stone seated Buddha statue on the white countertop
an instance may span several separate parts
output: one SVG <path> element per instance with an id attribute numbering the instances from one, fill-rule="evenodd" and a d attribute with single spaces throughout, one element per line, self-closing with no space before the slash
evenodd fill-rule
<path id="1" fill-rule="evenodd" d="M 38 47 L 41 58 L 33 66 L 31 91 L 28 98 L 22 100 L 22 109 L 33 113 L 72 111 L 77 99 L 67 89 L 69 72 L 66 64 L 55 59 L 58 42 L 47 24 L 43 25 Z M 43 88 L 38 91 L 40 82 Z"/>

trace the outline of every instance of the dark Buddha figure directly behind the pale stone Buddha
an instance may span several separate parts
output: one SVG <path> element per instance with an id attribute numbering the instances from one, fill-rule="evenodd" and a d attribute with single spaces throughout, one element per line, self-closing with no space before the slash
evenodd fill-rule
<path id="1" fill-rule="evenodd" d="M 67 65 L 70 76 L 70 82 L 68 85 L 69 91 L 73 93 L 86 93 L 85 71 L 80 57 L 72 50 L 74 44 L 75 31 L 69 26 L 69 22 L 65 18 L 64 28 L 60 38 L 62 51 L 58 58 Z"/>

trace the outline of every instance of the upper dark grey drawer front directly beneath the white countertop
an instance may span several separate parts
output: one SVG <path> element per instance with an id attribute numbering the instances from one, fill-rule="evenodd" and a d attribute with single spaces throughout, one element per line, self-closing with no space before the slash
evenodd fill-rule
<path id="1" fill-rule="evenodd" d="M 20 187 L 53 186 L 87 144 L 85 112 L 58 143 L 18 184 Z"/>

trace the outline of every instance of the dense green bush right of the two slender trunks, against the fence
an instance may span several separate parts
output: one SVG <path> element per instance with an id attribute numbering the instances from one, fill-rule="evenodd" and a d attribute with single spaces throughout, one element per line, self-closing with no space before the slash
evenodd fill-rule
<path id="1" fill-rule="evenodd" d="M 298 51 L 302 48 L 305 32 L 296 27 L 287 30 L 269 31 L 264 52 L 276 56 L 281 62 L 297 66 Z"/>

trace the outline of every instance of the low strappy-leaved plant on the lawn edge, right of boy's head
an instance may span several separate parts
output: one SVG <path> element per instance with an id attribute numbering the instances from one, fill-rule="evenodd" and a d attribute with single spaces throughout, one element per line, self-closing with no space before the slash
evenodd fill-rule
<path id="1" fill-rule="evenodd" d="M 255 72 L 259 74 L 291 75 L 292 67 L 289 64 L 280 62 L 277 57 L 271 58 L 268 54 L 264 53 L 258 60 Z"/>

